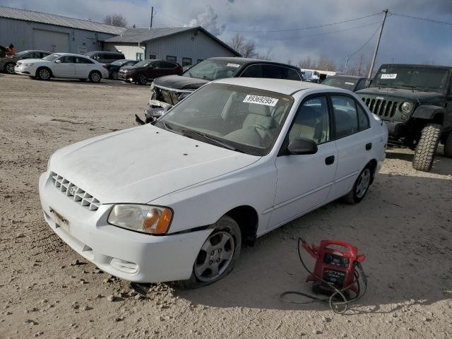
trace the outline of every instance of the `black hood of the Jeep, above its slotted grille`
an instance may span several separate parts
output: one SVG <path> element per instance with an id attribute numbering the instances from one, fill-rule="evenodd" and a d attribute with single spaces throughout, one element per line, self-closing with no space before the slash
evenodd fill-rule
<path id="1" fill-rule="evenodd" d="M 414 102 L 437 102 L 444 100 L 444 95 L 437 92 L 424 92 L 422 90 L 408 90 L 405 88 L 378 88 L 370 87 L 357 91 L 358 95 L 377 95 L 379 97 L 398 97 L 402 100 Z"/>

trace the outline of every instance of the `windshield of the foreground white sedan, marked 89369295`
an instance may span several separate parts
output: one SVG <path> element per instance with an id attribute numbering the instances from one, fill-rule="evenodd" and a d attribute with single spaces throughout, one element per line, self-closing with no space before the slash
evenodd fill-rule
<path id="1" fill-rule="evenodd" d="M 266 155 L 293 99 L 289 95 L 211 83 L 186 97 L 155 126 L 251 155 Z"/>

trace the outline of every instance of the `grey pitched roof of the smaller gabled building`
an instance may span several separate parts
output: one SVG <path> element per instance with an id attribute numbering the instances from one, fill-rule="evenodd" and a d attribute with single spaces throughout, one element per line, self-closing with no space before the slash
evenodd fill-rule
<path id="1" fill-rule="evenodd" d="M 176 27 L 176 28 L 127 28 L 124 32 L 118 33 L 117 37 L 110 37 L 105 42 L 146 42 L 149 40 L 160 39 L 161 37 L 169 37 L 170 35 L 179 34 L 182 32 L 189 32 L 194 30 L 200 30 L 204 34 L 208 35 L 211 39 L 218 42 L 223 47 L 229 49 L 233 54 L 240 56 L 239 52 L 230 47 L 225 42 L 222 42 L 218 37 L 211 34 L 201 26 L 195 27 Z"/>

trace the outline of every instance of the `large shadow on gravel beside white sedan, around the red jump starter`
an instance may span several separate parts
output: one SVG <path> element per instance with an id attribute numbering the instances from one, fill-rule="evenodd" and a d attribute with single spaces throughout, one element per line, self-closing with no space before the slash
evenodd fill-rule
<path id="1" fill-rule="evenodd" d="M 425 187 L 429 187 L 426 193 Z M 422 201 L 435 199 L 436 210 Z M 325 304 L 288 304 L 280 293 L 311 294 L 297 255 L 297 238 L 319 244 L 340 239 L 367 256 L 367 294 L 352 313 L 389 313 L 412 304 L 452 297 L 452 181 L 380 174 L 362 203 L 335 201 L 244 247 L 226 278 L 197 290 L 176 290 L 194 304 L 258 309 L 328 309 Z M 314 259 L 302 251 L 309 268 Z M 307 299 L 299 299 L 307 301 Z M 359 307 L 364 306 L 364 307 Z"/>

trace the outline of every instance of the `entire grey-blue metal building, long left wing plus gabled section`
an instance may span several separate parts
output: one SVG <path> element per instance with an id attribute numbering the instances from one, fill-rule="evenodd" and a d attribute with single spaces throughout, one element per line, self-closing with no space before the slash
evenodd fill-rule
<path id="1" fill-rule="evenodd" d="M 0 6 L 0 45 L 16 51 L 85 54 L 120 51 L 126 59 L 166 59 L 182 66 L 240 54 L 201 27 L 121 28 L 90 20 Z"/>

